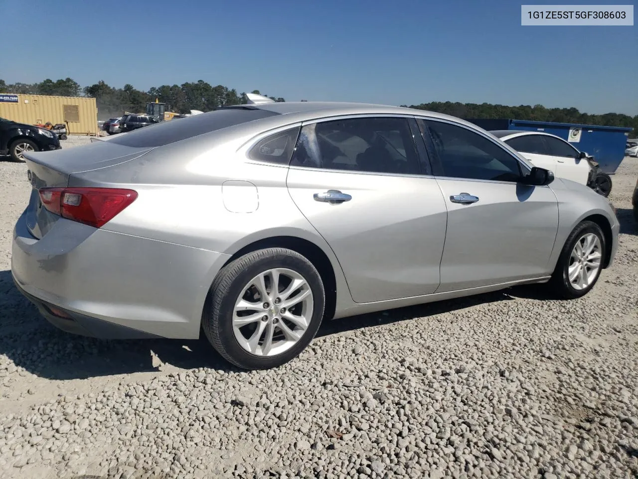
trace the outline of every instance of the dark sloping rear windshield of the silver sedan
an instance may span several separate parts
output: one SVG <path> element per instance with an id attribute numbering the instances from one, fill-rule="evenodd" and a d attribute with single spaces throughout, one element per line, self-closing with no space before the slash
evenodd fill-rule
<path id="1" fill-rule="evenodd" d="M 155 148 L 274 115 L 278 113 L 261 109 L 222 109 L 181 118 L 179 121 L 162 121 L 147 128 L 118 135 L 108 142 L 133 148 Z"/>

